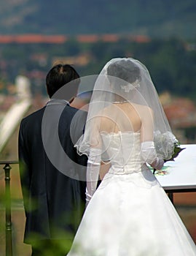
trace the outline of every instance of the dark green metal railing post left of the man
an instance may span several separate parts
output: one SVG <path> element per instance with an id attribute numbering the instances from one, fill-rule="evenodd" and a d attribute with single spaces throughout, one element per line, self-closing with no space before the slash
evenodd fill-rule
<path id="1" fill-rule="evenodd" d="M 12 256 L 12 219 L 10 197 L 10 167 L 9 163 L 4 166 L 5 172 L 5 214 L 6 214 L 6 256 Z"/>

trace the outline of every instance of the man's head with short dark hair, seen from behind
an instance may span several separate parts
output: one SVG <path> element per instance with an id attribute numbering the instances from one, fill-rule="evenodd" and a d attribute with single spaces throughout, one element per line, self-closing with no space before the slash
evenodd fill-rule
<path id="1" fill-rule="evenodd" d="M 69 64 L 56 64 L 47 73 L 47 94 L 50 98 L 55 94 L 57 98 L 70 100 L 77 95 L 79 82 L 79 74 L 74 67 Z M 58 93 L 58 90 L 65 87 L 66 84 L 68 84 L 66 89 Z"/>

